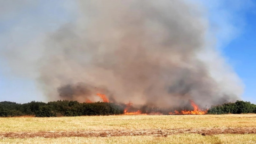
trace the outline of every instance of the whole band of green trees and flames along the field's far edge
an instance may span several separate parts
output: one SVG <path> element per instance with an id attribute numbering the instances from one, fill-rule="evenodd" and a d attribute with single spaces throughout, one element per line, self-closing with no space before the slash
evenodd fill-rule
<path id="1" fill-rule="evenodd" d="M 202 111 L 193 101 L 193 106 L 183 110 L 159 109 L 148 106 L 133 106 L 128 104 L 117 104 L 111 102 L 83 102 L 72 100 L 58 100 L 48 103 L 31 101 L 19 104 L 15 102 L 0 102 L 0 117 L 8 116 L 106 116 L 106 115 L 192 115 L 192 114 L 241 114 L 256 113 L 256 105 L 247 101 L 237 100 L 235 103 L 212 106 L 209 110 Z M 188 109 L 188 110 L 184 110 Z"/>

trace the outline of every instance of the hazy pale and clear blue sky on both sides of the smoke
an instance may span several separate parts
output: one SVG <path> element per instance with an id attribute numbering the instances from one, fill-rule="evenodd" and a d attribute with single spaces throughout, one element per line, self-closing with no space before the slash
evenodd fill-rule
<path id="1" fill-rule="evenodd" d="M 189 1 L 189 0 L 188 0 Z M 256 11 L 254 0 L 198 0 L 206 10 L 216 48 L 226 58 L 244 84 L 242 100 L 256 103 Z M 71 0 L 0 0 L 0 101 L 26 103 L 47 101 L 37 87 L 36 75 L 28 67 L 15 72 L 6 57 L 36 61 L 41 48 L 37 45 L 48 33 L 76 19 L 77 5 Z M 34 51 L 29 56 L 27 51 Z M 6 55 L 5 49 L 17 53 Z"/>

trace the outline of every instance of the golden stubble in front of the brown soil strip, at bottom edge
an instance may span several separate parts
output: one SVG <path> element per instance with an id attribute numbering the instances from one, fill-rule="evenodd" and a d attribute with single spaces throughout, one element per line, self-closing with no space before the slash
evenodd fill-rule
<path id="1" fill-rule="evenodd" d="M 255 144 L 255 134 L 174 134 L 167 137 L 120 136 L 120 137 L 61 137 L 61 138 L 3 138 L 0 143 L 17 144 Z"/>

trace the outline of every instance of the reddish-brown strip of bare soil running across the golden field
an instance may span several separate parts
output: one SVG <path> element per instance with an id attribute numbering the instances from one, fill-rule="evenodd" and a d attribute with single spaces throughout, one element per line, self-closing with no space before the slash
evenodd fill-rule
<path id="1" fill-rule="evenodd" d="M 111 131 L 79 131 L 79 132 L 5 132 L 0 138 L 59 138 L 59 137 L 113 137 L 113 136 L 159 136 L 167 137 L 172 134 L 197 133 L 202 135 L 214 134 L 256 134 L 256 127 L 243 128 L 212 128 L 212 129 L 152 129 L 152 130 L 111 130 Z"/>

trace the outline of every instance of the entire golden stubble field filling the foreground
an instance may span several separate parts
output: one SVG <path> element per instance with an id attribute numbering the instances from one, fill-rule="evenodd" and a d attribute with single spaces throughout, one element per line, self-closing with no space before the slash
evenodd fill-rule
<path id="1" fill-rule="evenodd" d="M 8 117 L 0 118 L 0 143 L 256 143 L 256 114 L 179 115 L 179 116 L 80 116 L 80 117 Z M 230 129 L 232 128 L 232 129 Z M 218 130 L 203 135 L 203 130 Z M 228 132 L 225 130 L 230 129 Z M 239 129 L 238 131 L 234 131 Z M 152 134 L 170 132 L 166 135 Z M 191 132 L 190 132 L 191 130 Z M 138 136 L 132 134 L 136 131 Z M 148 131 L 146 133 L 146 131 Z M 163 132 L 162 132 L 163 131 Z M 188 131 L 188 132 L 187 132 Z M 201 132 L 201 134 L 198 134 Z M 34 136 L 20 138 L 15 134 Z M 36 136 L 39 132 L 126 132 L 118 136 Z M 129 135 L 131 132 L 131 135 Z M 133 132 L 133 133 L 132 133 Z M 245 134 L 236 134 L 245 133 Z M 10 136 L 14 133 L 13 136 Z M 128 133 L 128 134 L 127 134 Z M 175 133 L 175 134 L 174 134 Z M 233 134 L 230 134 L 233 133 Z M 50 133 L 51 134 L 51 133 Z M 135 133 L 136 134 L 136 133 Z"/>

